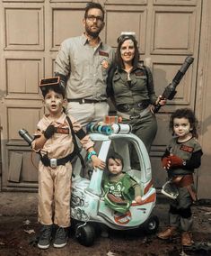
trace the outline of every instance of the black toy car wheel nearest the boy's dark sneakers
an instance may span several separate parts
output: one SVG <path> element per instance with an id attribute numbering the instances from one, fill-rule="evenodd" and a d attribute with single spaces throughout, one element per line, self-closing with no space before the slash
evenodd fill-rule
<path id="1" fill-rule="evenodd" d="M 91 246 L 94 242 L 95 232 L 91 224 L 78 224 L 75 236 L 77 241 L 84 246 Z"/>

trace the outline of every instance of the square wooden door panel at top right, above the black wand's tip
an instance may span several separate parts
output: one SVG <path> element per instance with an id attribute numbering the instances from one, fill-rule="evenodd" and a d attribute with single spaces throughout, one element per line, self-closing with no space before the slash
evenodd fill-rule
<path id="1" fill-rule="evenodd" d="M 195 8 L 156 7 L 151 54 L 193 54 L 196 21 Z"/>

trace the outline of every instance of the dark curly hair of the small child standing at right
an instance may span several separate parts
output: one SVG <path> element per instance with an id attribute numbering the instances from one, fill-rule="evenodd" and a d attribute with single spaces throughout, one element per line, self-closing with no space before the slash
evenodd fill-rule
<path id="1" fill-rule="evenodd" d="M 174 118 L 186 118 L 189 120 L 190 128 L 192 129 L 193 137 L 198 138 L 197 128 L 198 128 L 198 119 L 196 118 L 194 112 L 190 108 L 180 108 L 177 109 L 174 113 L 171 114 L 169 129 L 173 132 L 173 120 Z"/>

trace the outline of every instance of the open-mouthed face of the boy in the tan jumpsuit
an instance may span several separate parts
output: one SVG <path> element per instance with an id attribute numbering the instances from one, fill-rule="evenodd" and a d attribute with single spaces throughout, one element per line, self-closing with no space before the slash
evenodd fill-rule
<path id="1" fill-rule="evenodd" d="M 54 90 L 49 90 L 44 98 L 44 102 L 45 106 L 48 108 L 49 114 L 57 115 L 62 113 L 65 99 L 61 94 L 58 94 Z"/>

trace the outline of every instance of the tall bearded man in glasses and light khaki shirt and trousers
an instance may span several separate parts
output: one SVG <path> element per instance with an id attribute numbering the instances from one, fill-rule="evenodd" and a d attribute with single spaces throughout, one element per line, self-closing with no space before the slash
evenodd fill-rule
<path id="1" fill-rule="evenodd" d="M 104 10 L 98 3 L 86 5 L 82 36 L 62 42 L 55 61 L 55 75 L 66 87 L 66 114 L 85 126 L 102 121 L 109 113 L 106 78 L 114 50 L 99 34 L 104 27 Z"/>

